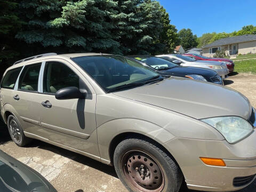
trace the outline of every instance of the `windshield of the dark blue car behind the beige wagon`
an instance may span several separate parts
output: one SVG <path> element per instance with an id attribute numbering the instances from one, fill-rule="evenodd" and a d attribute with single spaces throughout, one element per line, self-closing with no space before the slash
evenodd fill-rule
<path id="1" fill-rule="evenodd" d="M 162 58 L 158 58 L 158 57 L 151 57 L 151 56 L 134 56 L 134 59 L 141 61 L 143 63 L 145 63 L 146 65 L 153 67 L 157 70 L 165 70 L 165 69 L 171 69 L 173 67 L 178 67 L 177 64 L 171 62 L 171 61 L 167 61 L 165 59 Z"/>

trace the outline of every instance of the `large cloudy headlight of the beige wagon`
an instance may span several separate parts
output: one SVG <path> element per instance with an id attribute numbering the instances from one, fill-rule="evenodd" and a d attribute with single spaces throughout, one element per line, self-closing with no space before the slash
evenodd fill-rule
<path id="1" fill-rule="evenodd" d="M 242 140 L 253 131 L 249 122 L 236 116 L 213 117 L 201 119 L 201 121 L 217 129 L 229 143 Z"/>

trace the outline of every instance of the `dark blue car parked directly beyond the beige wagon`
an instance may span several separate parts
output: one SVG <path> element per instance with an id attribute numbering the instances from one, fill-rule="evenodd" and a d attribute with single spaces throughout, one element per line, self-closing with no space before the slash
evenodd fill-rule
<path id="1" fill-rule="evenodd" d="M 222 78 L 212 69 L 199 67 L 180 67 L 179 65 L 151 55 L 129 55 L 130 59 L 140 61 L 161 75 L 187 77 L 198 81 L 207 81 L 223 85 Z"/>

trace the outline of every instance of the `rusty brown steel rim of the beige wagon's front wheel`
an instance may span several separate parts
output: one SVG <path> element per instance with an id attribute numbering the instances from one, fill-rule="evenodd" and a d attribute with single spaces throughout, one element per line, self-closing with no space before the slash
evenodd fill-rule
<path id="1" fill-rule="evenodd" d="M 125 179 L 136 191 L 160 192 L 164 188 L 164 174 L 155 159 L 139 150 L 127 152 L 122 158 Z"/>

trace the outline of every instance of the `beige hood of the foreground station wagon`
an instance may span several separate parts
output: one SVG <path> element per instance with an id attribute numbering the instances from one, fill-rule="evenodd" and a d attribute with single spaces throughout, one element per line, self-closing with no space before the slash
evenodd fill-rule
<path id="1" fill-rule="evenodd" d="M 158 83 L 114 94 L 196 119 L 217 116 L 248 119 L 251 113 L 251 104 L 241 93 L 225 86 L 188 78 L 170 77 Z"/>

